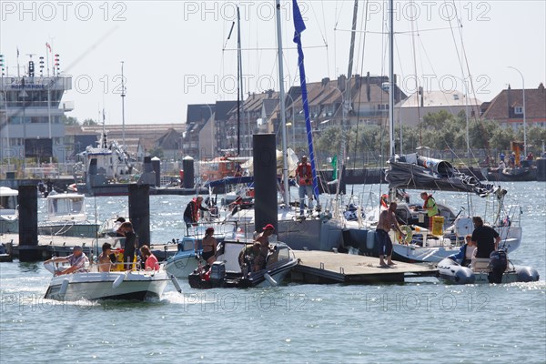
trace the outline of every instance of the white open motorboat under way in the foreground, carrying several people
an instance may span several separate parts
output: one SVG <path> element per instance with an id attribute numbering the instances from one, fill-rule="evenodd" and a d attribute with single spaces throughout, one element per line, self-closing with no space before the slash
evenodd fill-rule
<path id="1" fill-rule="evenodd" d="M 45 268 L 55 273 L 54 264 L 45 264 Z M 170 280 L 163 267 L 159 270 L 76 272 L 53 277 L 45 298 L 66 301 L 159 298 Z"/>

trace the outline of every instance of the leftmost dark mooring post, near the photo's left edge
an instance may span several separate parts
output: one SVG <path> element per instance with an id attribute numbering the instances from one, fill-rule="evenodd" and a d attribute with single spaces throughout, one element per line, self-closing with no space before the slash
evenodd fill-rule
<path id="1" fill-rule="evenodd" d="M 40 260 L 38 249 L 38 189 L 19 186 L 19 261 Z"/>

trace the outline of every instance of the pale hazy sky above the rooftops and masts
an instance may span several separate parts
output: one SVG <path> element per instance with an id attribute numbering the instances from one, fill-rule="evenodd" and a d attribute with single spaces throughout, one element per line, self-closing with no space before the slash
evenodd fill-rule
<path id="1" fill-rule="evenodd" d="M 298 86 L 292 2 L 281 1 L 284 85 Z M 353 1 L 298 1 L 308 82 L 347 74 Z M 274 1 L 0 1 L 0 54 L 8 76 L 28 54 L 60 56 L 73 77 L 68 116 L 121 124 L 184 123 L 188 104 L 237 99 L 240 10 L 243 92 L 278 89 Z M 509 84 L 546 78 L 546 2 L 395 2 L 395 74 L 411 94 L 459 90 L 490 101 Z M 359 1 L 353 74 L 387 75 L 387 5 Z M 51 61 L 52 57 L 50 57 Z M 518 71 L 509 68 L 517 68 Z M 523 77 L 523 79 L 522 79 Z M 418 84 L 416 84 L 416 80 Z"/>

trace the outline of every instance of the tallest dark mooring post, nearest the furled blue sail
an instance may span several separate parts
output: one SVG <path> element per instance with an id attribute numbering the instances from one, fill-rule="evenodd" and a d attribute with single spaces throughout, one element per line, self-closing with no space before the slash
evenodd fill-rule
<path id="1" fill-rule="evenodd" d="M 276 145 L 275 134 L 253 136 L 254 227 L 257 232 L 273 224 L 278 234 Z"/>

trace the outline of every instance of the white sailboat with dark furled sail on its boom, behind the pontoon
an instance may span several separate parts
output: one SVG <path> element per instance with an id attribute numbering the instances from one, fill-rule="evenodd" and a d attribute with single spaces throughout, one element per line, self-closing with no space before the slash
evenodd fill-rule
<path id="1" fill-rule="evenodd" d="M 394 231 L 390 232 L 393 242 L 393 258 L 410 262 L 440 262 L 443 258 L 457 253 L 464 236 L 473 230 L 471 218 L 463 216 L 462 210 L 455 214 L 450 207 L 440 205 L 440 215 L 443 224 L 439 231 L 430 231 L 424 225 L 424 211 L 418 204 L 410 204 L 405 200 L 405 194 L 399 193 L 399 188 L 414 188 L 428 190 L 449 190 L 475 193 L 480 197 L 496 198 L 496 214 L 494 227 L 501 235 L 500 248 L 513 251 L 521 244 L 520 215 L 521 208 L 512 207 L 507 213 L 504 209 L 504 197 L 507 191 L 490 184 L 482 184 L 476 177 L 460 173 L 449 162 L 420 156 L 418 153 L 399 156 L 395 153 L 394 143 L 394 20 L 393 4 L 389 5 L 389 170 L 386 179 L 389 182 L 389 200 L 396 201 L 396 211 L 399 221 L 406 225 L 402 230 L 406 238 L 402 239 Z M 387 207 L 385 204 L 384 207 Z M 349 235 L 359 240 L 360 252 L 366 255 L 378 256 L 379 247 L 372 228 L 378 223 L 377 207 L 365 221 L 364 228 L 349 228 Z M 503 216 L 504 214 L 504 216 Z M 439 220 L 441 221 L 441 219 Z M 354 224 L 354 223 L 353 223 Z M 350 225 L 350 223 L 348 223 Z"/>

